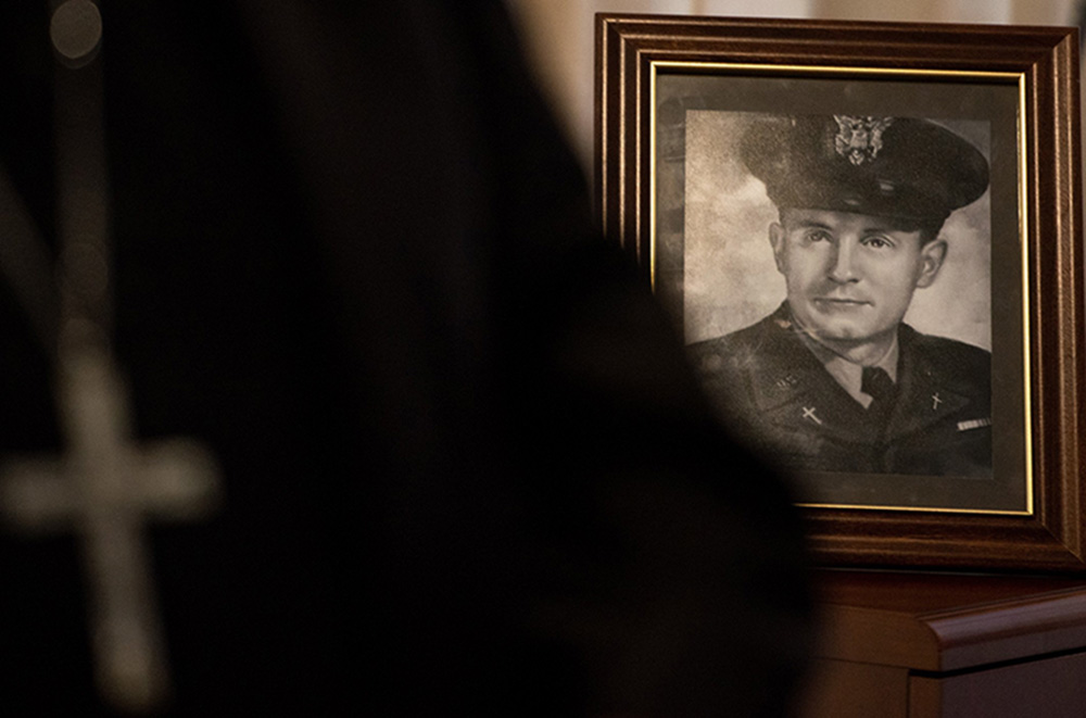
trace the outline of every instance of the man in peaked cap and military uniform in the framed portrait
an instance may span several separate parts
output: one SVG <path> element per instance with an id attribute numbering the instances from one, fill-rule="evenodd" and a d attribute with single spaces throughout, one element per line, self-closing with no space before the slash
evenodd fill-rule
<path id="1" fill-rule="evenodd" d="M 779 209 L 787 298 L 691 347 L 753 443 L 808 470 L 990 476 L 990 355 L 902 318 L 946 257 L 939 236 L 988 185 L 984 155 L 932 122 L 774 116 L 742 159 Z"/>

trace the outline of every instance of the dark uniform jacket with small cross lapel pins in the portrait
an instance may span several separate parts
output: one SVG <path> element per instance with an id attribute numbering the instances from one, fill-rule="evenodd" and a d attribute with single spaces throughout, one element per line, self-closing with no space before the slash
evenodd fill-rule
<path id="1" fill-rule="evenodd" d="M 736 429 L 787 467 L 988 476 L 990 354 L 906 324 L 898 341 L 898 392 L 885 424 L 872 420 L 807 349 L 786 303 L 691 352 Z"/>

